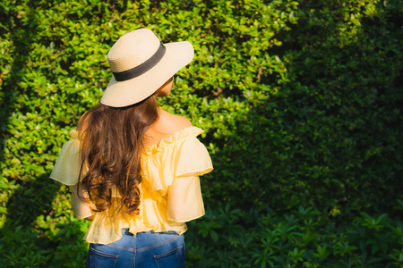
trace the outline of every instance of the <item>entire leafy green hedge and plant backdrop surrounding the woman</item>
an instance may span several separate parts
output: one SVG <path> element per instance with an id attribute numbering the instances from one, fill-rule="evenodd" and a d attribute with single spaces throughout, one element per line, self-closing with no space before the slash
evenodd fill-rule
<path id="1" fill-rule="evenodd" d="M 215 171 L 189 223 L 189 267 L 402 267 L 401 1 L 0 3 L 0 256 L 83 266 L 88 222 L 49 180 L 110 79 L 106 54 L 147 27 L 189 40 L 161 101 L 205 130 Z"/>

